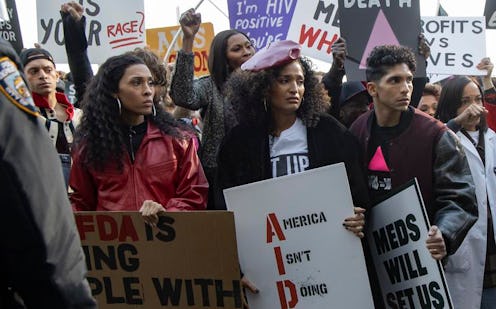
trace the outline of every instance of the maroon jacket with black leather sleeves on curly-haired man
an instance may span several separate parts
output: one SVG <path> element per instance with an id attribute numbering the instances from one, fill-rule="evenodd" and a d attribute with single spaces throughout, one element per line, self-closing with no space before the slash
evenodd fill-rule
<path id="1" fill-rule="evenodd" d="M 429 219 L 441 230 L 448 254 L 453 254 L 477 220 L 475 188 L 467 158 L 457 137 L 440 121 L 413 107 L 408 127 L 389 144 L 393 189 L 417 177 Z M 364 162 L 373 110 L 351 126 L 358 137 Z"/>

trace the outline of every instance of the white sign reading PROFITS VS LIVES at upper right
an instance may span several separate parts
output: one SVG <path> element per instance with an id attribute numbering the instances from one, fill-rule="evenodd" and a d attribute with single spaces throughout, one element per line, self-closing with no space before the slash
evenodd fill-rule
<path id="1" fill-rule="evenodd" d="M 431 55 L 427 73 L 485 75 L 477 69 L 486 57 L 484 17 L 422 17 L 422 32 Z"/>

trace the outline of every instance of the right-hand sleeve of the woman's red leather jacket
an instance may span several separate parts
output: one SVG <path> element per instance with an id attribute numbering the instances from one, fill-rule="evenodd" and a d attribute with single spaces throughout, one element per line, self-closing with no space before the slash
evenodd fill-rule
<path id="1" fill-rule="evenodd" d="M 165 209 L 169 211 L 204 210 L 207 208 L 208 182 L 191 139 L 181 142 L 182 158 L 178 164 L 176 197 Z"/>

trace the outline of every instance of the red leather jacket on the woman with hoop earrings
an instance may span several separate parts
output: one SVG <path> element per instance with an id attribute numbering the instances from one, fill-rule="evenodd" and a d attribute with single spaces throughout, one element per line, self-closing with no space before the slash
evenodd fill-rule
<path id="1" fill-rule="evenodd" d="M 82 151 L 84 146 L 72 154 L 74 210 L 133 211 L 145 200 L 170 211 L 206 208 L 208 183 L 191 140 L 166 135 L 148 123 L 134 163 L 125 152 L 122 171 L 113 162 L 101 171 L 88 168 L 81 162 Z"/>

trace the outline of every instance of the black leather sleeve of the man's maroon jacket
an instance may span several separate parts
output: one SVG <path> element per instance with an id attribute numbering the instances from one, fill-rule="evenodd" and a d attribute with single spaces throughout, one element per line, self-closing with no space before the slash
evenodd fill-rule
<path id="1" fill-rule="evenodd" d="M 450 130 L 436 145 L 434 159 L 434 222 L 441 230 L 448 255 L 456 252 L 477 221 L 474 180 L 460 141 Z"/>

